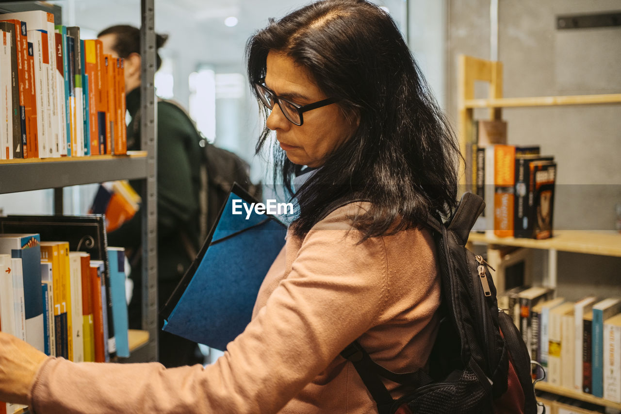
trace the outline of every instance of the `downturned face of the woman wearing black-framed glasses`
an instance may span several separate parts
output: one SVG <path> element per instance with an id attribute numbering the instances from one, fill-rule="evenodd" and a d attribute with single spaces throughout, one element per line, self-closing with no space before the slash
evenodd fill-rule
<path id="1" fill-rule="evenodd" d="M 329 98 L 306 68 L 279 52 L 268 53 L 265 86 L 277 96 L 300 105 Z M 326 157 L 353 135 L 357 124 L 345 117 L 338 104 L 305 112 L 301 126 L 292 124 L 279 106 L 274 105 L 266 121 L 266 126 L 276 131 L 276 139 L 287 158 L 292 163 L 309 167 L 323 165 Z"/>

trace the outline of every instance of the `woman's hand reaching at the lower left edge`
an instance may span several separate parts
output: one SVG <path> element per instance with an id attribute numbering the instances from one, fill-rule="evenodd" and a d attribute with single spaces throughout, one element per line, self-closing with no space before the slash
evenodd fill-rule
<path id="1" fill-rule="evenodd" d="M 28 393 L 45 359 L 34 346 L 0 332 L 0 401 L 29 403 Z"/>

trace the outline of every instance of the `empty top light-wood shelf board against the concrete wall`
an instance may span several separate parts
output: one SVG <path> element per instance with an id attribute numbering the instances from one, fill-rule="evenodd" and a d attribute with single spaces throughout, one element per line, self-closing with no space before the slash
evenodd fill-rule
<path id="1" fill-rule="evenodd" d="M 621 103 L 621 93 L 534 98 L 466 99 L 465 108 L 510 108 L 520 106 L 558 106 Z"/>

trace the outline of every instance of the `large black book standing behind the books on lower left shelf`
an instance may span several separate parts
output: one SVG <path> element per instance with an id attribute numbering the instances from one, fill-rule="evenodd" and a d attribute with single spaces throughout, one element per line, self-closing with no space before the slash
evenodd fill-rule
<path id="1" fill-rule="evenodd" d="M 104 282 L 109 284 L 109 265 L 107 260 L 107 233 L 104 217 L 99 214 L 83 216 L 40 216 L 40 215 L 9 215 L 0 217 L 0 232 L 30 232 L 37 229 L 42 240 L 63 240 L 69 242 L 71 251 L 87 252 L 92 260 L 104 262 Z M 112 300 L 106 296 L 104 300 L 106 321 L 112 322 Z M 109 316 L 109 318 L 108 318 Z M 109 335 L 111 357 L 116 356 L 114 326 L 106 327 Z"/>

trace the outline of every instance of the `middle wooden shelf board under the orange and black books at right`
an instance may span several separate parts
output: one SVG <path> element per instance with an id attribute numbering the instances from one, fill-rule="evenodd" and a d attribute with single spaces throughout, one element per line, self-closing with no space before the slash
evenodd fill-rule
<path id="1" fill-rule="evenodd" d="M 468 241 L 501 246 L 555 249 L 561 252 L 597 254 L 621 257 L 621 234 L 613 231 L 557 230 L 551 239 L 516 239 L 470 233 Z"/>

